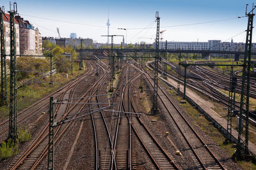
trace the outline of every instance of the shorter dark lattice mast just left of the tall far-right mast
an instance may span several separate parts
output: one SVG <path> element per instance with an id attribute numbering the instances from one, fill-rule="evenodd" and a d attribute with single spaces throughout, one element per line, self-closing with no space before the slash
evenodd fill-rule
<path id="1" fill-rule="evenodd" d="M 225 143 L 230 143 L 232 138 L 232 115 L 234 113 L 234 107 L 236 101 L 234 96 L 236 94 L 236 78 L 233 74 L 233 67 L 230 69 L 230 84 L 229 84 L 229 96 L 228 96 L 228 115 L 227 115 L 227 139 Z"/>

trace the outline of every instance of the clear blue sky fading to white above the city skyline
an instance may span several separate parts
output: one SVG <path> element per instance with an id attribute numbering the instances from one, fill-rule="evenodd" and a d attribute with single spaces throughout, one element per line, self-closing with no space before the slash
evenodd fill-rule
<path id="1" fill-rule="evenodd" d="M 246 4 L 252 0 L 16 0 L 18 13 L 38 27 L 42 36 L 92 38 L 106 43 L 109 11 L 109 34 L 124 35 L 127 43 L 153 43 L 156 38 L 156 11 L 159 11 L 163 41 L 221 41 L 245 42 Z M 6 11 L 9 1 L 0 0 Z M 256 10 L 255 10 L 256 12 Z M 238 18 L 242 17 L 242 18 Z M 125 28 L 127 31 L 118 28 Z M 122 37 L 115 37 L 120 43 Z M 253 35 L 256 42 L 256 34 Z"/>

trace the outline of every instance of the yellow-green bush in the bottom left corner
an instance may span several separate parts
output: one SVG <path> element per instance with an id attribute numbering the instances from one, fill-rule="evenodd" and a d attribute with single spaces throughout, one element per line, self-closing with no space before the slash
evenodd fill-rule
<path id="1" fill-rule="evenodd" d="M 0 147 L 0 158 L 8 159 L 19 152 L 17 143 L 12 139 L 8 139 L 7 143 L 3 141 Z"/>

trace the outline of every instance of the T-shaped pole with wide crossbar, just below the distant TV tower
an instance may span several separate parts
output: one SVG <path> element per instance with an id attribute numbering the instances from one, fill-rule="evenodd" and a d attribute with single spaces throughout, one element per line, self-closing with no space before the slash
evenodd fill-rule
<path id="1" fill-rule="evenodd" d="M 108 35 L 109 36 L 109 35 Z M 122 35 L 110 35 L 111 36 L 111 50 L 109 54 L 109 62 L 112 63 L 111 66 L 111 80 L 110 80 L 110 87 L 109 87 L 109 92 L 114 91 L 114 80 L 115 80 L 115 53 L 113 52 L 114 50 L 114 36 L 122 36 Z M 124 37 L 124 36 L 122 36 Z"/>

